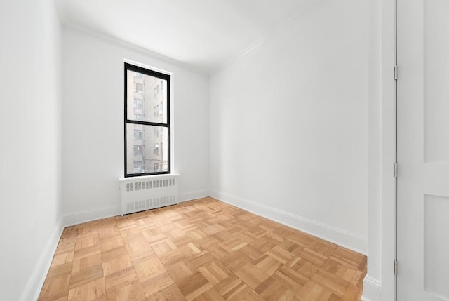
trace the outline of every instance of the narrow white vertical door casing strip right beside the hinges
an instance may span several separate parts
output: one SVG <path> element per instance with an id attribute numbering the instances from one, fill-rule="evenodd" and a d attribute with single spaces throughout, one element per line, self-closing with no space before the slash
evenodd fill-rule
<path id="1" fill-rule="evenodd" d="M 375 1 L 375 0 L 374 0 Z M 381 112 L 382 112 L 382 192 L 381 192 L 381 292 L 382 300 L 396 300 L 396 0 L 381 4 Z M 399 72 L 400 74 L 400 72 Z M 400 265 L 399 265 L 400 269 Z"/>

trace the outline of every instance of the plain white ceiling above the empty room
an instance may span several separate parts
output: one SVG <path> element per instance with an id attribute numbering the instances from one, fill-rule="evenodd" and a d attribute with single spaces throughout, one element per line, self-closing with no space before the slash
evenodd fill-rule
<path id="1" fill-rule="evenodd" d="M 62 20 L 213 72 L 319 0 L 59 0 Z"/>

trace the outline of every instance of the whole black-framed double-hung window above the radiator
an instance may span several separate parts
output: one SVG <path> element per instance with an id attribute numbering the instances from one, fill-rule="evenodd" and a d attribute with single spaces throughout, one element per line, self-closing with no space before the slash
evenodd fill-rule
<path id="1" fill-rule="evenodd" d="M 128 63 L 124 71 L 125 177 L 170 173 L 170 75 Z"/>

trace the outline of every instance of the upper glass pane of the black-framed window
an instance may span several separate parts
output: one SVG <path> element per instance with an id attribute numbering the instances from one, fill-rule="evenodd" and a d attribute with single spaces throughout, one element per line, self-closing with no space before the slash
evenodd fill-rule
<path id="1" fill-rule="evenodd" d="M 127 116 L 130 120 L 167 123 L 167 86 L 165 79 L 127 71 Z"/>

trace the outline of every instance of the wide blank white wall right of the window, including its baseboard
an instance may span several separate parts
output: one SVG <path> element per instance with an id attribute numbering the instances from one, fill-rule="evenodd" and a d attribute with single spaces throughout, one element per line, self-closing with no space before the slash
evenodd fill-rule
<path id="1" fill-rule="evenodd" d="M 368 25 L 326 1 L 212 77 L 213 196 L 366 253 Z"/>

